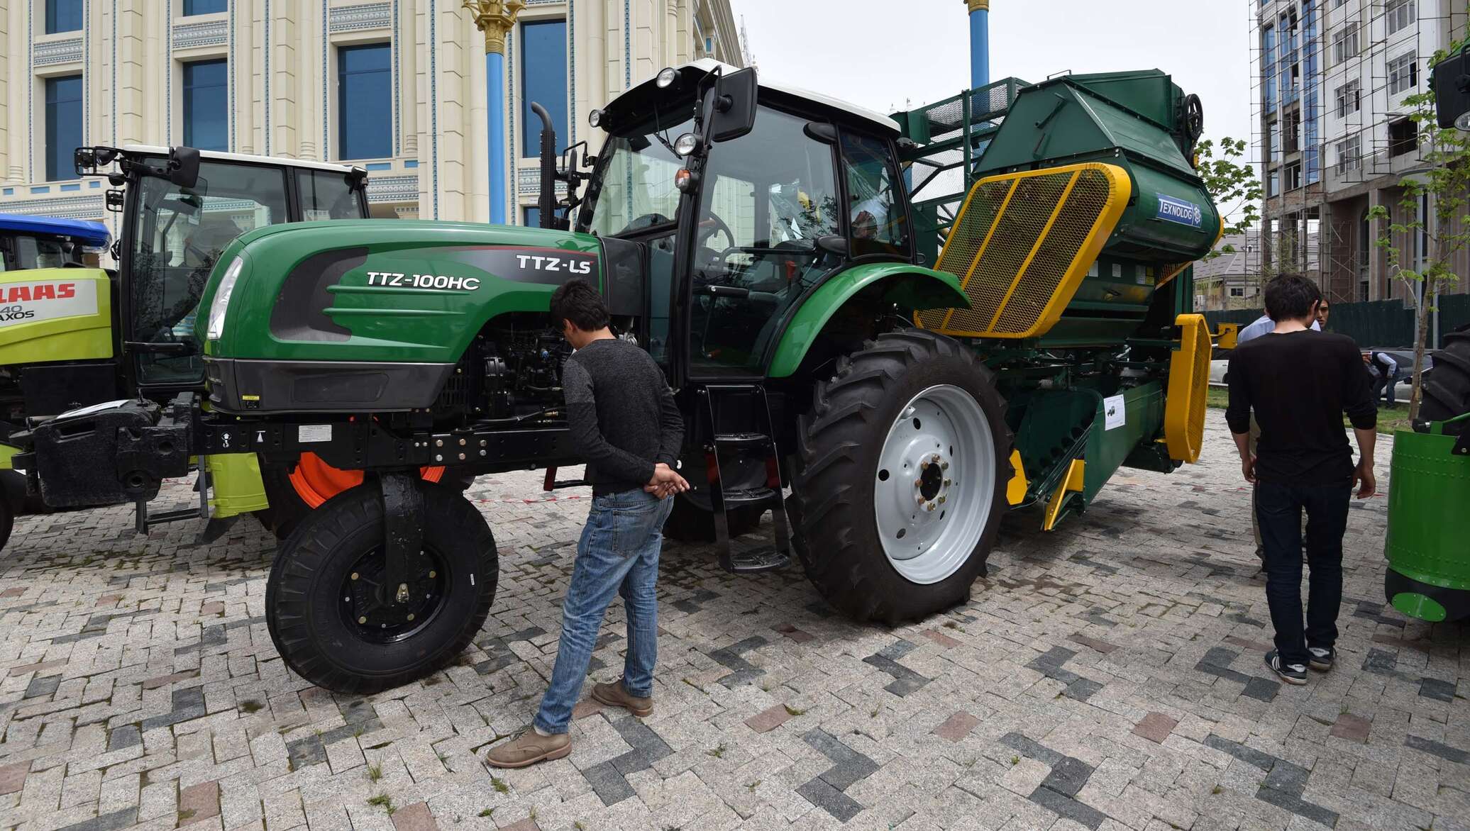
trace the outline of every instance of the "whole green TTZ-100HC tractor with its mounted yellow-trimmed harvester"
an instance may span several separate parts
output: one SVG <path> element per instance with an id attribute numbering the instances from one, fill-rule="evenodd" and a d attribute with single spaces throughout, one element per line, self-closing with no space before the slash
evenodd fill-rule
<path id="1" fill-rule="evenodd" d="M 315 455 L 344 489 L 282 543 L 269 630 L 307 680 L 368 692 L 453 658 L 495 595 L 484 517 L 422 468 L 553 468 L 554 487 L 579 461 L 547 320 L 572 277 L 676 389 L 695 489 L 669 531 L 731 571 L 800 558 L 857 620 L 964 600 L 1010 509 L 1050 529 L 1122 464 L 1197 457 L 1210 339 L 1188 264 L 1220 219 L 1191 164 L 1198 100 L 1167 75 L 1005 81 L 892 119 L 701 62 L 591 120 L 589 173 L 542 138 L 541 216 L 570 179 L 573 228 L 231 242 L 196 327 L 207 393 L 38 426 L 40 492 L 66 492 L 47 458 L 68 442 L 137 499 L 190 455 Z M 947 176 L 973 188 L 911 198 Z M 731 543 L 764 512 L 773 546 Z"/>

